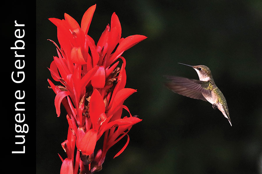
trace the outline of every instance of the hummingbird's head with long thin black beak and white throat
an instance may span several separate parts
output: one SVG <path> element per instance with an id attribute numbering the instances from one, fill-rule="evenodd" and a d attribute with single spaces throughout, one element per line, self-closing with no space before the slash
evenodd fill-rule
<path id="1" fill-rule="evenodd" d="M 178 64 L 181 64 L 181 63 L 178 63 Z M 195 66 L 187 65 L 187 64 L 182 64 L 182 65 L 186 65 L 186 66 L 190 66 L 194 68 L 194 70 L 197 71 L 199 80 L 201 81 L 209 81 L 210 79 L 213 78 L 210 69 L 205 65 L 195 65 Z"/>

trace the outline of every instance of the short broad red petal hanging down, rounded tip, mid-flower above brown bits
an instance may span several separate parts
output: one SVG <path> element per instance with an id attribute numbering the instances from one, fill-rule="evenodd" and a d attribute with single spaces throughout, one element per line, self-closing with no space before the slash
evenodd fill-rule
<path id="1" fill-rule="evenodd" d="M 104 88 L 105 86 L 105 68 L 100 66 L 91 80 L 94 88 Z"/>

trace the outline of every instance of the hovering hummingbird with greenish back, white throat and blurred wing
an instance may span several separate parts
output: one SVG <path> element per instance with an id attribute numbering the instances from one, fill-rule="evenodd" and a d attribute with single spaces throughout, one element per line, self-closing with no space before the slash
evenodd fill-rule
<path id="1" fill-rule="evenodd" d="M 182 65 L 194 68 L 194 70 L 197 71 L 199 80 L 188 79 L 185 77 L 165 76 L 170 80 L 169 82 L 165 83 L 165 86 L 180 95 L 193 99 L 201 99 L 211 103 L 214 109 L 218 108 L 222 112 L 224 117 L 226 117 L 232 126 L 226 98 L 216 86 L 210 69 L 205 65 Z"/>

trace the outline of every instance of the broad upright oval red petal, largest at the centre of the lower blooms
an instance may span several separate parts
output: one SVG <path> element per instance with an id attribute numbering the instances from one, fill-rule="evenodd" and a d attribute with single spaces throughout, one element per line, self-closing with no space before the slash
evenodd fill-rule
<path id="1" fill-rule="evenodd" d="M 100 95 L 98 90 L 95 89 L 90 98 L 89 114 L 93 125 L 93 129 L 96 131 L 98 131 L 100 127 L 100 121 L 102 121 L 102 118 L 100 117 L 103 116 L 101 115 L 102 113 L 105 113 L 105 103 L 103 97 Z"/>

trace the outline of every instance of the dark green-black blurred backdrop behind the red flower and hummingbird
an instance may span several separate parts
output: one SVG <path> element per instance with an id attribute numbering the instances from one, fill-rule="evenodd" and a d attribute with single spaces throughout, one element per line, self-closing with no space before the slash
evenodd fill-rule
<path id="1" fill-rule="evenodd" d="M 37 174 L 57 174 L 66 157 L 68 123 L 56 117 L 47 69 L 56 56 L 56 26 L 48 18 L 79 23 L 97 4 L 88 34 L 98 41 L 113 12 L 122 37 L 148 38 L 123 54 L 132 115 L 143 119 L 107 153 L 100 174 L 262 173 L 262 2 L 255 1 L 37 1 Z M 163 75 L 198 79 L 177 62 L 210 68 L 227 99 L 231 127 L 219 110 L 163 86 Z M 98 146 L 101 142 L 98 142 Z M 101 146 L 100 146 L 101 148 Z"/>

